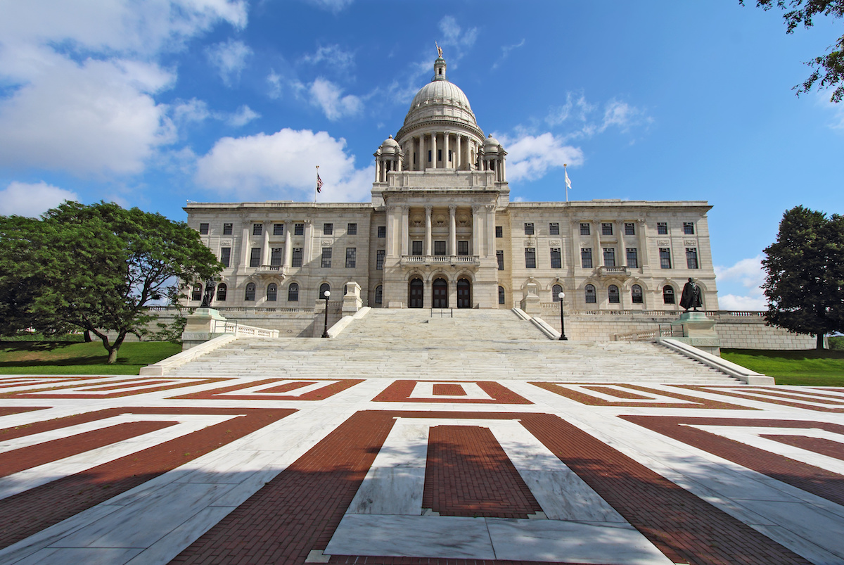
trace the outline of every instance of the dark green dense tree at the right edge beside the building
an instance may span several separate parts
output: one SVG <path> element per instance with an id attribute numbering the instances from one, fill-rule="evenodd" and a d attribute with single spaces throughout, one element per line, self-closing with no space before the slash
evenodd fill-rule
<path id="1" fill-rule="evenodd" d="M 844 330 L 844 217 L 803 206 L 787 210 L 765 254 L 766 321 L 815 334 L 823 349 L 825 334 Z"/>

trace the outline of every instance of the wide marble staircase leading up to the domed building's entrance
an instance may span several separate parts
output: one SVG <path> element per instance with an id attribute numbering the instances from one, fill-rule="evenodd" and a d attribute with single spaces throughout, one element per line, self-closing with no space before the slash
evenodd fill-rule
<path id="1" fill-rule="evenodd" d="M 549 340 L 509 310 L 373 309 L 332 340 L 239 338 L 170 375 L 736 384 L 662 345 Z"/>

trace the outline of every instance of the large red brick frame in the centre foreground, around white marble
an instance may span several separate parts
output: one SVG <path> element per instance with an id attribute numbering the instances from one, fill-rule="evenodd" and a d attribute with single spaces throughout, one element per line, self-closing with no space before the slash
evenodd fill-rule
<path id="1" fill-rule="evenodd" d="M 808 561 L 557 416 L 358 412 L 256 492 L 172 563 L 303 563 L 324 550 L 393 418 L 519 419 L 674 562 L 808 565 Z M 413 535 L 408 532 L 408 535 Z M 474 560 L 334 556 L 332 562 L 457 565 Z M 504 565 L 516 562 L 486 562 Z"/>

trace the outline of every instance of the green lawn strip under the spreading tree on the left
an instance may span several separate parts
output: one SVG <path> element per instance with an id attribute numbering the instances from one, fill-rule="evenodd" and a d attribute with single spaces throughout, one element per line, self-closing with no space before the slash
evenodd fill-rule
<path id="1" fill-rule="evenodd" d="M 0 374 L 137 375 L 141 367 L 180 351 L 181 345 L 169 341 L 129 342 L 107 365 L 108 352 L 100 342 L 0 341 Z"/>

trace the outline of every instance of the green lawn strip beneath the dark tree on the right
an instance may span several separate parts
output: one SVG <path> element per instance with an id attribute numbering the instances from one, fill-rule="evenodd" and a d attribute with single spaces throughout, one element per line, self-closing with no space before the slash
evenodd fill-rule
<path id="1" fill-rule="evenodd" d="M 844 351 L 722 349 L 721 356 L 773 377 L 776 384 L 844 386 Z"/>

